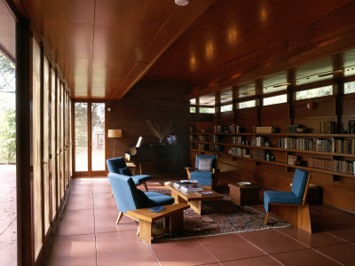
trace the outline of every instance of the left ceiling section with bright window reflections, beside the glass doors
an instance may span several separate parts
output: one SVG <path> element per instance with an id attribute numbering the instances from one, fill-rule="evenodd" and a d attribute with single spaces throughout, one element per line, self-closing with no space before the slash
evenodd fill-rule
<path id="1" fill-rule="evenodd" d="M 122 98 L 213 0 L 24 0 L 72 98 Z"/>

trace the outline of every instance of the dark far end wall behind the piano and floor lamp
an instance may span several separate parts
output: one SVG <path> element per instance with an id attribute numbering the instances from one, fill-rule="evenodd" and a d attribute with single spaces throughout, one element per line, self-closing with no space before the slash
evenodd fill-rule
<path id="1" fill-rule="evenodd" d="M 130 145 L 136 145 L 138 137 L 143 137 L 142 145 L 158 144 L 146 127 L 146 121 L 166 125 L 173 121 L 171 135 L 177 136 L 177 149 L 180 154 L 178 173 L 183 174 L 189 163 L 189 102 L 179 102 L 178 95 L 185 87 L 167 82 L 140 82 L 122 100 L 107 103 L 108 129 L 122 129 L 122 138 L 108 139 L 108 158 L 123 156 Z M 159 162 L 154 167 L 143 168 L 144 174 L 159 173 Z"/>

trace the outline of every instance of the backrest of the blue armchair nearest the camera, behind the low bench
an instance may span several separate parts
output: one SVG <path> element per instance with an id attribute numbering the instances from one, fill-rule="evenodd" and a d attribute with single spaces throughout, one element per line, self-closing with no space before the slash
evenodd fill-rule
<path id="1" fill-rule="evenodd" d="M 144 192 L 138 190 L 130 176 L 109 173 L 107 177 L 119 211 L 126 213 L 128 210 L 143 208 L 148 205 L 149 198 Z"/>

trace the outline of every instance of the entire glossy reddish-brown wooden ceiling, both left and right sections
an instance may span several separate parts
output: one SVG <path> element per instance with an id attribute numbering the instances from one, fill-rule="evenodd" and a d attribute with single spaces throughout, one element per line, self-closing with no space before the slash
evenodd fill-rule
<path id="1" fill-rule="evenodd" d="M 355 48 L 351 0 L 23 4 L 72 98 L 121 99 L 142 79 L 183 82 L 192 98 Z"/>

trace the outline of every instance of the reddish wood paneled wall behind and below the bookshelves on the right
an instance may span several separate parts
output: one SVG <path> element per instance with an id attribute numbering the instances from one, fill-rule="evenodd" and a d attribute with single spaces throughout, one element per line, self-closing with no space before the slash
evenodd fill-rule
<path id="1" fill-rule="evenodd" d="M 301 124 L 304 125 L 311 133 L 319 133 L 320 121 L 341 121 L 339 129 L 347 129 L 347 122 L 355 120 L 355 95 L 344 95 L 340 100 L 341 115 L 336 114 L 336 96 L 327 96 L 324 98 L 313 98 L 309 100 L 294 101 L 293 103 L 280 104 L 274 106 L 261 106 L 235 110 L 233 112 L 217 113 L 216 121 L 220 125 L 228 125 L 237 123 L 246 128 L 247 132 L 252 132 L 252 126 L 275 126 L 281 133 L 288 132 L 288 125 Z M 312 101 L 314 109 L 307 109 L 306 104 Z M 260 121 L 257 121 L 258 108 L 260 108 Z M 289 110 L 294 113 L 289 117 Z M 235 119 L 232 119 L 231 113 L 234 113 Z M 229 120 L 228 120 L 229 118 Z M 201 128 L 199 122 L 193 121 L 193 125 Z M 196 125 L 197 124 L 197 125 Z M 205 124 L 206 125 L 206 124 Z M 197 129 L 199 130 L 199 129 Z M 206 131 L 211 131 L 207 129 Z M 201 132 L 197 131 L 197 132 Z M 212 131 L 213 132 L 213 131 Z M 277 137 L 274 137 L 276 139 Z M 195 153 L 191 152 L 190 157 L 193 163 Z M 276 161 L 285 160 L 287 156 L 285 152 L 272 151 L 276 157 Z M 297 153 L 296 153 L 297 154 Z M 308 156 L 299 153 L 303 160 L 308 160 Z M 322 158 L 322 155 L 312 156 Z M 323 156 L 324 157 L 324 156 Z M 327 155 L 327 159 L 329 156 Z M 236 179 L 263 184 L 274 190 L 290 191 L 289 184 L 292 183 L 294 171 L 285 167 L 276 166 L 264 162 L 256 163 L 253 160 L 233 159 L 230 156 L 219 156 L 219 168 L 221 173 Z M 319 172 L 312 172 L 312 184 L 319 185 L 323 190 L 323 202 L 343 209 L 355 211 L 355 178 L 340 176 L 339 180 L 334 181 L 332 175 Z"/>

